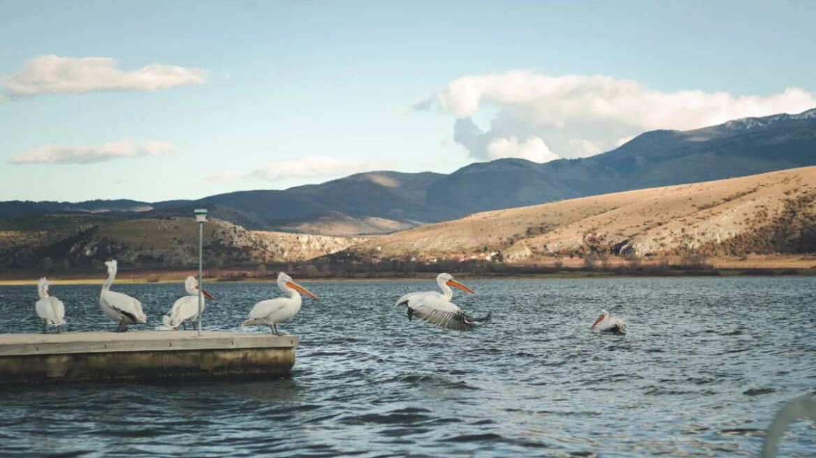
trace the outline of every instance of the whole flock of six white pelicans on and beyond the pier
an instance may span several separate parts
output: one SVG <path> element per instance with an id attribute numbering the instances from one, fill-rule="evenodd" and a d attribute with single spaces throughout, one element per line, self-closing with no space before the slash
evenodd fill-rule
<path id="1" fill-rule="evenodd" d="M 127 294 L 110 290 L 113 281 L 116 280 L 116 260 L 105 262 L 105 266 L 108 267 L 108 278 L 102 284 L 102 290 L 100 291 L 100 307 L 104 315 L 107 315 L 118 324 L 117 332 L 127 331 L 129 324 L 147 323 L 148 318 L 147 315 L 144 315 L 141 302 Z M 35 307 L 37 315 L 42 320 L 43 333 L 47 332 L 48 326 L 53 326 L 56 328 L 56 332 L 60 332 L 60 327 L 66 324 L 65 306 L 60 299 L 51 296 L 51 293 L 48 292 L 49 284 L 46 278 L 40 279 L 38 283 L 40 300 Z M 471 288 L 454 280 L 453 275 L 446 273 L 437 275 L 437 284 L 442 291 L 441 293 L 436 291 L 408 293 L 397 299 L 395 307 L 405 306 L 409 321 L 417 317 L 429 324 L 459 331 L 472 331 L 477 326 L 490 322 L 492 312 L 480 318 L 474 318 L 465 313 L 455 303 L 450 302 L 454 295 L 452 288 L 460 289 L 469 294 L 474 293 Z M 268 326 L 269 331 L 277 335 L 279 334 L 277 325 L 291 319 L 300 311 L 303 302 L 302 297 L 300 297 L 301 293 L 317 299 L 317 296 L 312 292 L 295 283 L 292 277 L 283 272 L 277 275 L 277 287 L 283 293 L 286 293 L 288 297 L 277 297 L 258 302 L 252 307 L 242 326 Z M 194 326 L 198 319 L 199 292 L 206 300 L 215 301 L 215 297 L 210 293 L 203 289 L 200 290 L 198 282 L 193 276 L 188 276 L 187 280 L 184 281 L 184 289 L 187 296 L 175 301 L 171 310 L 162 317 L 162 323 L 164 324 L 162 328 L 186 329 L 188 322 Z M 206 300 L 202 303 L 202 310 L 204 310 Z M 623 319 L 610 317 L 608 311 L 601 310 L 601 315 L 590 329 L 597 329 L 601 332 L 626 333 L 626 324 Z"/>

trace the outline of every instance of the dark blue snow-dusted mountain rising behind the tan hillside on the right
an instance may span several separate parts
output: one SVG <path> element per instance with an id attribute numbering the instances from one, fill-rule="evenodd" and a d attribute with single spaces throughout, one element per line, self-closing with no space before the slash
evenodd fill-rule
<path id="1" fill-rule="evenodd" d="M 428 200 L 469 214 L 805 165 L 816 165 L 816 109 L 698 130 L 655 130 L 584 159 L 472 164 L 434 183 Z"/>

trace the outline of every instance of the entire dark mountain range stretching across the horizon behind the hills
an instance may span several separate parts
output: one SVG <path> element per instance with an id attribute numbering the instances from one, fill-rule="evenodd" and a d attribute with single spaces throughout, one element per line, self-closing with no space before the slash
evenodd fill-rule
<path id="1" fill-rule="evenodd" d="M 698 130 L 654 130 L 597 156 L 538 164 L 499 159 L 452 174 L 378 171 L 286 190 L 230 192 L 199 200 L 0 202 L 0 218 L 113 214 L 118 218 L 211 215 L 250 230 L 349 236 L 380 234 L 490 209 L 816 165 L 816 108 L 744 118 Z"/>

